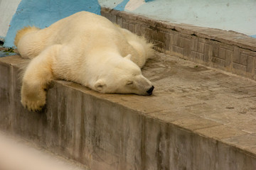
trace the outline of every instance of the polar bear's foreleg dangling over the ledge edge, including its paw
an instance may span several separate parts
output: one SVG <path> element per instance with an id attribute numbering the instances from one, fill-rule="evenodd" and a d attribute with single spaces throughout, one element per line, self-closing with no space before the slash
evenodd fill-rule
<path id="1" fill-rule="evenodd" d="M 47 86 L 53 80 L 52 64 L 61 45 L 53 45 L 28 64 L 23 75 L 21 103 L 29 111 L 41 111 L 46 104 Z"/>

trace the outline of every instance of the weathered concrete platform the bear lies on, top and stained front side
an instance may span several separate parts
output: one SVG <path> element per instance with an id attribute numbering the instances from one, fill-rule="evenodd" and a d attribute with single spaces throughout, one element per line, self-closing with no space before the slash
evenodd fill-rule
<path id="1" fill-rule="evenodd" d="M 0 128 L 90 169 L 255 169 L 256 82 L 156 53 L 153 96 L 56 80 L 46 109 L 21 106 L 18 56 L 0 59 Z"/>

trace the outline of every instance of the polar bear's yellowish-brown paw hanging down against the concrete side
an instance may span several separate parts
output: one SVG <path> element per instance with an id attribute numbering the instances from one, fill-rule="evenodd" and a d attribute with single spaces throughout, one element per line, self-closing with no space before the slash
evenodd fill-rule
<path id="1" fill-rule="evenodd" d="M 46 90 L 24 91 L 21 93 L 21 103 L 28 111 L 38 112 L 46 105 Z"/>

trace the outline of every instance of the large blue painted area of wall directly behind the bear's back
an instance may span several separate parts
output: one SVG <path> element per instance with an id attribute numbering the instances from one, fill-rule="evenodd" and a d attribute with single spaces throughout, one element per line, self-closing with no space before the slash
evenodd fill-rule
<path id="1" fill-rule="evenodd" d="M 11 19 L 4 47 L 14 47 L 16 31 L 24 26 L 46 28 L 78 11 L 100 15 L 100 4 L 97 0 L 22 0 Z"/>

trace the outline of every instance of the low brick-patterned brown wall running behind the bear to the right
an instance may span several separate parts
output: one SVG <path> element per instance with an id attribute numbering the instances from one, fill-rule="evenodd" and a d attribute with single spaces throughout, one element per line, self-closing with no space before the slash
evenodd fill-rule
<path id="1" fill-rule="evenodd" d="M 256 38 L 241 33 L 156 21 L 102 8 L 102 16 L 155 43 L 155 49 L 256 79 Z"/>

